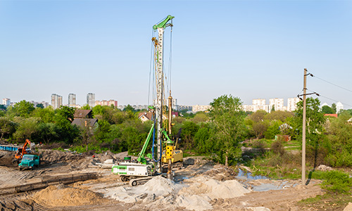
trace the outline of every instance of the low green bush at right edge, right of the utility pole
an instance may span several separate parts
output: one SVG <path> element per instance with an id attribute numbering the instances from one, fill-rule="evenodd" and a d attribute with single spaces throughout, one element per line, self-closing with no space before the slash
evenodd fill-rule
<path id="1" fill-rule="evenodd" d="M 324 175 L 322 188 L 334 193 L 348 193 L 351 190 L 351 179 L 344 172 L 331 171 Z"/>

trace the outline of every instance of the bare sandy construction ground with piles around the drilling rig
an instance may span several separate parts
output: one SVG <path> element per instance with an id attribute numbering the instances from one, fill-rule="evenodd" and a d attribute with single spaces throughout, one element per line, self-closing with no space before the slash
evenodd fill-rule
<path id="1" fill-rule="evenodd" d="M 0 151 L 0 190 L 63 175 L 95 174 L 96 179 L 0 195 L 0 210 L 302 210 L 297 202 L 322 195 L 320 181 L 246 177 L 244 172 L 203 158 L 185 158 L 174 181 L 155 177 L 131 187 L 109 168 L 96 164 L 122 160 L 127 153 L 75 154 L 42 150 L 43 165 L 18 170 L 14 154 Z M 1 191 L 0 191 L 1 193 Z M 325 210 L 327 207 L 304 207 Z M 329 209 L 327 209 L 329 210 Z M 343 209 L 342 209 L 343 210 Z"/>

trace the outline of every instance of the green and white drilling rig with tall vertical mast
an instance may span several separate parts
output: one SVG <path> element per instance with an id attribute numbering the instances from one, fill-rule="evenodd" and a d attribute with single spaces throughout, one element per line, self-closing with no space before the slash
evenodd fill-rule
<path id="1" fill-rule="evenodd" d="M 168 114 L 168 130 L 166 130 L 163 125 L 165 122 L 163 117 L 165 117 L 164 104 L 164 72 L 163 72 L 163 34 L 166 27 L 172 27 L 172 19 L 175 18 L 172 15 L 168 15 L 165 19 L 161 20 L 160 23 L 153 25 L 153 31 L 158 33 L 158 38 L 156 36 L 152 37 L 152 43 L 154 46 L 153 58 L 156 77 L 156 101 L 155 106 L 149 106 L 149 109 L 153 113 L 153 124 L 149 131 L 149 134 L 144 141 L 144 146 L 142 151 L 139 153 L 137 161 L 132 161 L 130 157 L 124 159 L 123 162 L 119 162 L 118 165 L 112 167 L 113 174 L 120 175 L 121 181 L 130 181 L 131 186 L 136 186 L 137 184 L 142 184 L 152 176 L 156 174 L 162 174 L 163 163 L 168 164 L 168 178 L 172 179 L 171 165 L 174 162 L 182 162 L 183 153 L 177 150 L 177 141 L 172 141 L 170 139 L 171 134 L 171 117 L 172 117 L 172 97 L 171 91 L 168 98 L 169 104 L 169 114 Z M 171 30 L 172 32 L 172 30 Z M 170 36 L 172 37 L 172 36 Z M 171 86 L 170 86 L 171 87 Z M 151 151 L 145 155 L 146 148 L 152 140 Z M 156 153 L 154 149 L 156 148 Z M 164 150 L 163 150 L 164 148 Z M 145 158 L 145 156 L 147 158 Z M 156 158 L 155 158 L 156 156 Z"/>

